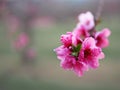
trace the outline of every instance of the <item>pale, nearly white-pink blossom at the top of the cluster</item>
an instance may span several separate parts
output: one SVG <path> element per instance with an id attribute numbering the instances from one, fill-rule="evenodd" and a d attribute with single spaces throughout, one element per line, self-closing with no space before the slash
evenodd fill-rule
<path id="1" fill-rule="evenodd" d="M 95 26 L 94 16 L 91 12 L 86 12 L 78 16 L 80 23 L 86 30 L 91 30 Z M 79 24 L 78 24 L 79 25 Z"/>

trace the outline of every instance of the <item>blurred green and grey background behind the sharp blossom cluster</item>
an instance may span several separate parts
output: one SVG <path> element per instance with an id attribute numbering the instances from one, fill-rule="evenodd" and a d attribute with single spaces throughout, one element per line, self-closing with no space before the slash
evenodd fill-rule
<path id="1" fill-rule="evenodd" d="M 100 0 L 0 0 L 0 90 L 120 90 L 120 0 L 104 0 L 98 30 L 110 46 L 100 67 L 78 77 L 63 70 L 53 49 L 80 13 L 94 15 Z"/>

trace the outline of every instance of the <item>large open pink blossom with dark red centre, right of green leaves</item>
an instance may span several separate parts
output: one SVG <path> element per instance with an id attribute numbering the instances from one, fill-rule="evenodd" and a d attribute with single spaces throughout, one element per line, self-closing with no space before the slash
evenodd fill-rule
<path id="1" fill-rule="evenodd" d="M 99 59 L 104 58 L 101 48 L 97 47 L 92 37 L 86 38 L 81 47 L 79 58 L 91 68 L 99 66 Z"/>

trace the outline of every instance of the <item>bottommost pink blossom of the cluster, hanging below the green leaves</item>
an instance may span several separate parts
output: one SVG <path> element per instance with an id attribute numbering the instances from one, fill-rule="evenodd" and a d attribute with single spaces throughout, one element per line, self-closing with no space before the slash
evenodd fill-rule
<path id="1" fill-rule="evenodd" d="M 60 63 L 60 66 L 66 70 L 73 70 L 78 76 L 82 76 L 88 70 L 88 65 L 80 60 L 76 60 L 71 55 L 66 55 Z"/>

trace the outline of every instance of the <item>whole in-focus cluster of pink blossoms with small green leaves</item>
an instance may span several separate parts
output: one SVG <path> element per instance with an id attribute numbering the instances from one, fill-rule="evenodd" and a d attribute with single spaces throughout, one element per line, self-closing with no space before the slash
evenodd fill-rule
<path id="1" fill-rule="evenodd" d="M 96 21 L 91 12 L 78 16 L 78 24 L 72 32 L 61 35 L 62 45 L 54 49 L 60 66 L 66 70 L 73 70 L 82 76 L 90 68 L 97 68 L 99 60 L 105 57 L 102 48 L 109 45 L 108 28 L 96 31 Z"/>

